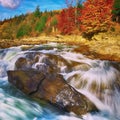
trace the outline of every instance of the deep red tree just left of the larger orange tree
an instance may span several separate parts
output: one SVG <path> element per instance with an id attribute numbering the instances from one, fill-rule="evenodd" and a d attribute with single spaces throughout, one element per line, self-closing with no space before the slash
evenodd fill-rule
<path id="1" fill-rule="evenodd" d="M 83 0 L 66 0 L 67 8 L 59 15 L 58 29 L 63 34 L 75 33 L 79 30 L 79 17 L 81 15 Z"/>

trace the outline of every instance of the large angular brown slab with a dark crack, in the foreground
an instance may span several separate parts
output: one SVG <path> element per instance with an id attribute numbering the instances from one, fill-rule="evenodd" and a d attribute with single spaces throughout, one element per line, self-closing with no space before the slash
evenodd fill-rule
<path id="1" fill-rule="evenodd" d="M 43 99 L 78 115 L 97 110 L 82 94 L 64 81 L 61 75 L 47 75 L 29 70 L 8 71 L 8 80 L 36 99 Z"/>

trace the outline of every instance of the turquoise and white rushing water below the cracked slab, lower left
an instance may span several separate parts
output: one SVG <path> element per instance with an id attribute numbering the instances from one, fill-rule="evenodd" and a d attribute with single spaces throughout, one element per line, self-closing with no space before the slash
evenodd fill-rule
<path id="1" fill-rule="evenodd" d="M 52 120 L 58 113 L 48 107 L 25 96 L 7 79 L 0 79 L 0 120 Z"/>

